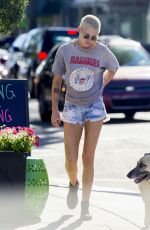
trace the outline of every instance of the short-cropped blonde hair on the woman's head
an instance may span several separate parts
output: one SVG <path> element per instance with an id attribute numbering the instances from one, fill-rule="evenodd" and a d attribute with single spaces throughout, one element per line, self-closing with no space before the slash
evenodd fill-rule
<path id="1" fill-rule="evenodd" d="M 81 22 L 80 22 L 80 27 L 81 28 L 85 28 L 87 26 L 90 26 L 94 29 L 97 29 L 98 32 L 100 33 L 100 30 L 101 30 L 101 22 L 99 20 L 98 17 L 94 16 L 94 15 L 91 15 L 91 14 L 88 14 L 86 16 L 84 16 L 82 19 L 81 19 Z"/>

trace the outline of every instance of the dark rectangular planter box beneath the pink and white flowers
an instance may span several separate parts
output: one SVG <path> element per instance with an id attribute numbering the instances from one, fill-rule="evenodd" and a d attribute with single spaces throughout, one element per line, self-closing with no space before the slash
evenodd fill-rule
<path id="1" fill-rule="evenodd" d="M 0 152 L 0 223 L 23 221 L 26 158 L 30 155 Z"/>

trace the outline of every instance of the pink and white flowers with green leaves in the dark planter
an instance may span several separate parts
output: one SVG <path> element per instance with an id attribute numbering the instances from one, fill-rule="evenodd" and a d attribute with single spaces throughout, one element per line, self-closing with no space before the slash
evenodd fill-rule
<path id="1" fill-rule="evenodd" d="M 0 151 L 31 152 L 33 146 L 39 146 L 39 137 L 33 129 L 0 126 Z"/>

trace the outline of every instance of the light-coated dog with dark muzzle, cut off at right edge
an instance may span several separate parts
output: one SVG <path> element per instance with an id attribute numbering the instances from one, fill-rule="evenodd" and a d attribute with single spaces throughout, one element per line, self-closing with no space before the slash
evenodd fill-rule
<path id="1" fill-rule="evenodd" d="M 138 184 L 141 197 L 145 205 L 144 229 L 150 228 L 150 153 L 140 158 L 137 165 L 132 169 L 127 177 L 134 179 Z"/>

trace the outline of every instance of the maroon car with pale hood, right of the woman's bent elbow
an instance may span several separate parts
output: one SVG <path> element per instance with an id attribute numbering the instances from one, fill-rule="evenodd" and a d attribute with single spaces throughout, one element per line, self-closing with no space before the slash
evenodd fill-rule
<path id="1" fill-rule="evenodd" d="M 150 111 L 150 56 L 139 42 L 119 36 L 101 36 L 117 57 L 120 68 L 105 87 L 103 98 L 108 113 L 132 118 L 138 111 Z"/>

